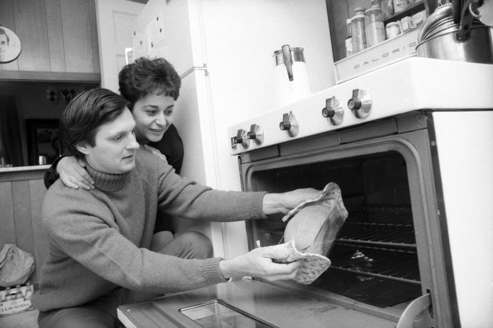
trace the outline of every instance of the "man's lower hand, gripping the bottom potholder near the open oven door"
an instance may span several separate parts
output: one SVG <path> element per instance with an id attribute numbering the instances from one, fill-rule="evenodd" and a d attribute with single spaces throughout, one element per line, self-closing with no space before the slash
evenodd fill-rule
<path id="1" fill-rule="evenodd" d="M 295 278 L 301 265 L 300 261 L 274 263 L 272 260 L 284 260 L 289 251 L 278 245 L 259 247 L 230 260 L 219 262 L 225 278 L 252 276 L 266 280 L 290 280 Z"/>

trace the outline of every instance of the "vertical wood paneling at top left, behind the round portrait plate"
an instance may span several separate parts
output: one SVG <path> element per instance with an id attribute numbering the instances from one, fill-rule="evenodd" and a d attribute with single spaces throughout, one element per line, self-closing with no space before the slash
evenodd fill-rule
<path id="1" fill-rule="evenodd" d="M 0 25 L 22 44 L 0 79 L 100 80 L 94 0 L 2 0 Z"/>

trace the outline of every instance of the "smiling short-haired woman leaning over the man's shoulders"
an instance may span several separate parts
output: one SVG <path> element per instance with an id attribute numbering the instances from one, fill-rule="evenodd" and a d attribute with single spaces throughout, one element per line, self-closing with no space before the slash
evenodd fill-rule
<path id="1" fill-rule="evenodd" d="M 163 58 L 139 58 L 118 74 L 120 93 L 129 101 L 136 123 L 137 142 L 155 154 L 162 154 L 179 174 L 183 161 L 183 143 L 173 125 L 174 102 L 178 99 L 181 80 L 173 65 Z M 69 188 L 94 188 L 94 180 L 85 164 L 74 156 L 58 158 L 45 174 L 48 188 L 58 178 Z M 173 231 L 171 218 L 158 213 L 154 232 Z"/>

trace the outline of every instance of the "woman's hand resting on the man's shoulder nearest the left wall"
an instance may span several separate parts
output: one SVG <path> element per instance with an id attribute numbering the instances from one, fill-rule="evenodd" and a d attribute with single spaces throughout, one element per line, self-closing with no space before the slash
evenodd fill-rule
<path id="1" fill-rule="evenodd" d="M 60 180 L 68 188 L 94 189 L 94 180 L 85 170 L 85 163 L 75 156 L 63 157 L 57 165 Z"/>

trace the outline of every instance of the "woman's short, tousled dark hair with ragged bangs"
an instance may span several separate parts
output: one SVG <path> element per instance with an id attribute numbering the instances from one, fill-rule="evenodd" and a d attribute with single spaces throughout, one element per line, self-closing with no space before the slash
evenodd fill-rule
<path id="1" fill-rule="evenodd" d="M 139 99 L 153 94 L 178 99 L 181 79 L 173 65 L 164 58 L 138 58 L 118 74 L 120 94 L 130 102 L 130 110 Z"/>

